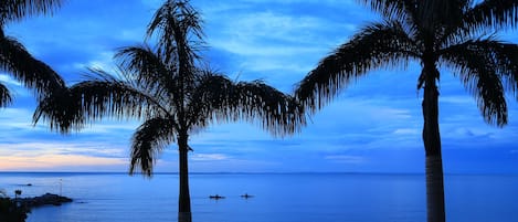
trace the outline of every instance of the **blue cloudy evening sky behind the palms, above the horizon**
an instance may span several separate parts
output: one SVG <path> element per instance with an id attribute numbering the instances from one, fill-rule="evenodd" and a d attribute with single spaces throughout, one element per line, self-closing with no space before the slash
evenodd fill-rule
<path id="1" fill-rule="evenodd" d="M 52 17 L 7 27 L 68 84 L 87 67 L 113 68 L 116 49 L 142 43 L 158 0 L 67 0 Z M 204 20 L 211 66 L 242 81 L 263 80 L 292 93 L 318 61 L 377 15 L 348 0 L 192 0 Z M 500 33 L 518 43 L 515 33 Z M 423 172 L 419 63 L 371 72 L 311 116 L 300 134 L 274 138 L 246 123 L 213 125 L 190 138 L 198 172 Z M 6 73 L 15 103 L 0 110 L 0 170 L 126 171 L 137 121 L 105 119 L 62 136 L 33 126 L 35 101 Z M 442 70 L 440 124 L 446 172 L 518 173 L 518 110 L 509 95 L 509 124 L 486 125 L 475 99 Z M 176 145 L 157 171 L 177 171 Z"/>

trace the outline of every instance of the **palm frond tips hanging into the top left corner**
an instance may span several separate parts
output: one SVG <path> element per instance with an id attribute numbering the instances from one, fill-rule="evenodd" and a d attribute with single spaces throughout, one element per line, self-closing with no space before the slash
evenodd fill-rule
<path id="1" fill-rule="evenodd" d="M 62 0 L 2 0 L 0 1 L 0 25 L 19 21 L 31 14 L 52 13 Z"/>

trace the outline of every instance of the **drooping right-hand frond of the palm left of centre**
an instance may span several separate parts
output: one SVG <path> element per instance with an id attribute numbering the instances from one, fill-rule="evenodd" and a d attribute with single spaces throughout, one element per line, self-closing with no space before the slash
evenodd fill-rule
<path id="1" fill-rule="evenodd" d="M 305 126 L 304 107 L 297 101 L 261 81 L 235 83 L 229 77 L 205 73 L 200 76 L 189 102 L 189 123 L 204 128 L 213 120 L 260 123 L 274 136 L 299 131 Z"/>

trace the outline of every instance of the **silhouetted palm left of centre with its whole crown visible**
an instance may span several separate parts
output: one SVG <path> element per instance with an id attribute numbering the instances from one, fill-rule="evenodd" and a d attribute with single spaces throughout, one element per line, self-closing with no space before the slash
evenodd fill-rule
<path id="1" fill-rule="evenodd" d="M 131 138 L 130 168 L 151 177 L 154 165 L 171 142 L 179 150 L 178 221 L 191 221 L 188 152 L 189 136 L 214 121 L 258 123 L 284 136 L 305 125 L 304 109 L 289 95 L 264 84 L 233 82 L 205 65 L 198 54 L 203 33 L 199 13 L 188 1 L 166 1 L 154 15 L 147 44 L 120 49 L 118 76 L 93 70 L 91 80 L 43 99 L 34 120 L 67 133 L 110 115 L 142 119 Z M 66 105 L 66 106 L 64 106 Z"/>

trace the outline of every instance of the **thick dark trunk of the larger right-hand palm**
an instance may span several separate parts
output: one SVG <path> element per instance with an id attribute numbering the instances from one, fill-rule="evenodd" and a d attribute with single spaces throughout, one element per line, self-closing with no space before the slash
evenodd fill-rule
<path id="1" fill-rule="evenodd" d="M 441 135 L 438 131 L 438 91 L 435 80 L 438 71 L 435 65 L 424 67 L 425 87 L 423 98 L 423 141 L 426 158 L 426 212 L 427 222 L 444 222 L 444 183 L 441 157 Z"/>

